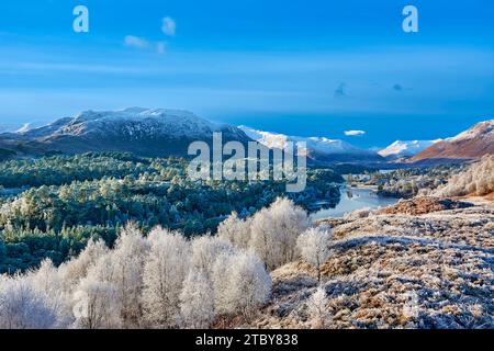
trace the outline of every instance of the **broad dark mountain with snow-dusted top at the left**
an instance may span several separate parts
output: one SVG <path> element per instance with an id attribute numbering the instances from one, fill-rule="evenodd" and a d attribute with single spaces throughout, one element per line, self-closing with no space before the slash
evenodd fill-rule
<path id="1" fill-rule="evenodd" d="M 191 112 L 132 107 L 86 111 L 45 126 L 1 135 L 0 146 L 19 145 L 41 152 L 121 151 L 139 156 L 187 156 L 192 141 L 212 143 L 214 132 L 225 141 L 250 140 L 244 132 L 211 123 Z"/>

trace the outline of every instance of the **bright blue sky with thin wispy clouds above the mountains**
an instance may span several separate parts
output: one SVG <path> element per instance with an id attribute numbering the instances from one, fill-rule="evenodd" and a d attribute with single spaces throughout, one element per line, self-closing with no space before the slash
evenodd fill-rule
<path id="1" fill-rule="evenodd" d="M 141 105 L 385 146 L 493 118 L 493 63 L 489 0 L 2 0 L 0 125 Z"/>

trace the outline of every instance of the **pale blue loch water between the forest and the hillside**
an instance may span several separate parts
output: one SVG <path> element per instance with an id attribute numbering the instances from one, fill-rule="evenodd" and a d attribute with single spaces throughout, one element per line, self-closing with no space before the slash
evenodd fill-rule
<path id="1" fill-rule="evenodd" d="M 341 189 L 341 199 L 336 206 L 321 210 L 312 214 L 311 218 L 314 220 L 332 217 L 338 218 L 356 210 L 385 207 L 396 202 L 398 202 L 398 199 L 378 196 L 375 191 L 371 189 L 345 186 Z"/>

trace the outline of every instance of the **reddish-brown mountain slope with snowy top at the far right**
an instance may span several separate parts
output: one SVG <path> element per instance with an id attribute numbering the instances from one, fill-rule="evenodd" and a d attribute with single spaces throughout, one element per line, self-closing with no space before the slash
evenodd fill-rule
<path id="1" fill-rule="evenodd" d="M 456 137 L 439 141 L 412 160 L 479 159 L 487 154 L 494 155 L 494 120 L 478 123 Z"/>

